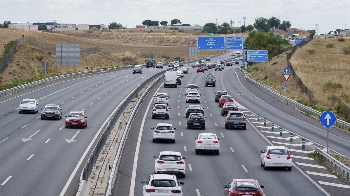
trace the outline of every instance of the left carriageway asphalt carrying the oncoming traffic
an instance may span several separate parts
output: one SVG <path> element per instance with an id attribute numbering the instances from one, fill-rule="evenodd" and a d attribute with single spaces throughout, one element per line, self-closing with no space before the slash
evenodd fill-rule
<path id="1" fill-rule="evenodd" d="M 229 58 L 225 53 L 212 60 Z M 143 70 L 142 75 L 128 69 L 78 77 L 1 98 L 0 195 L 75 195 L 80 172 L 110 115 L 138 84 L 164 69 Z M 37 99 L 39 112 L 19 114 L 24 98 Z M 40 120 L 45 104 L 59 104 L 63 118 Z M 85 111 L 85 129 L 64 128 L 64 115 L 71 110 Z M 74 135 L 77 141 L 68 143 Z"/>

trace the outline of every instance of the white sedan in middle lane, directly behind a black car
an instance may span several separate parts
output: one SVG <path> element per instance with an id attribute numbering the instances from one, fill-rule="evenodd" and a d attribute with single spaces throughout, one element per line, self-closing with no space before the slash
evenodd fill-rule
<path id="1" fill-rule="evenodd" d="M 218 140 L 220 138 L 216 137 L 214 133 L 200 133 L 198 137 L 194 137 L 195 142 L 195 151 L 196 154 L 199 152 L 215 152 L 219 154 L 220 143 Z"/>

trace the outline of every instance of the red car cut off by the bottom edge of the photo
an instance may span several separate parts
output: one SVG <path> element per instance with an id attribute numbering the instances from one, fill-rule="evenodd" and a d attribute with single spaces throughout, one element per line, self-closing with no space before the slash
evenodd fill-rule
<path id="1" fill-rule="evenodd" d="M 229 185 L 224 184 L 225 196 L 254 195 L 264 196 L 261 189 L 264 188 L 257 180 L 233 179 Z"/>

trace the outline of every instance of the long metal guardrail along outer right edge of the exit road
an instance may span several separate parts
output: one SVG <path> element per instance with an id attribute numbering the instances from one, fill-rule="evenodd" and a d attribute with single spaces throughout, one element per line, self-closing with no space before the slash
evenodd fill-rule
<path id="1" fill-rule="evenodd" d="M 240 71 L 244 74 L 244 77 L 246 78 L 247 82 L 253 84 L 255 87 L 257 87 L 258 89 L 264 91 L 267 95 L 281 101 L 282 103 L 288 105 L 289 107 L 292 107 L 292 108 L 296 108 L 302 112 L 305 112 L 307 113 L 308 115 L 311 115 L 311 116 L 315 116 L 316 118 L 320 118 L 320 115 L 321 115 L 321 112 L 318 112 L 317 110 L 314 110 L 310 107 L 307 107 L 301 103 L 298 103 L 292 99 L 289 99 L 288 97 L 285 97 L 283 95 L 280 95 L 279 93 L 273 91 L 272 89 L 269 89 L 267 88 L 266 86 L 260 84 L 259 82 L 251 79 L 250 77 L 248 77 L 246 74 L 245 74 L 245 70 L 244 69 L 241 69 L 239 68 Z M 336 122 L 335 122 L 335 125 L 336 127 L 340 128 L 340 129 L 344 129 L 344 130 L 347 130 L 347 131 L 350 131 L 350 123 L 348 122 L 345 122 L 345 121 L 342 121 L 340 119 L 337 119 Z"/>

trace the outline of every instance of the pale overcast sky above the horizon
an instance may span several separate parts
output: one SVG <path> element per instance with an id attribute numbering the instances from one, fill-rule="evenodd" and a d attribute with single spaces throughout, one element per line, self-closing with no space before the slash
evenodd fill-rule
<path id="1" fill-rule="evenodd" d="M 325 33 L 350 26 L 350 0 L 0 0 L 0 21 L 109 24 L 135 28 L 146 19 L 219 24 L 280 17 L 298 29 Z M 243 25 L 243 23 L 241 23 Z"/>

